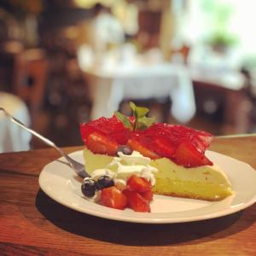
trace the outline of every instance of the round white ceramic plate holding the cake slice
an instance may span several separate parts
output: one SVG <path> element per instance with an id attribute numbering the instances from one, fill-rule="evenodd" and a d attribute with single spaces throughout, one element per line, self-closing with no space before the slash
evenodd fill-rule
<path id="1" fill-rule="evenodd" d="M 71 156 L 83 162 L 82 151 Z M 66 207 L 101 218 L 135 223 L 165 224 L 217 218 L 253 205 L 256 201 L 256 172 L 253 168 L 224 154 L 207 151 L 207 156 L 226 172 L 235 195 L 217 202 L 154 195 L 150 213 L 116 210 L 87 201 L 80 189 L 82 179 L 63 164 L 63 159 L 44 166 L 39 185 L 44 193 Z"/>

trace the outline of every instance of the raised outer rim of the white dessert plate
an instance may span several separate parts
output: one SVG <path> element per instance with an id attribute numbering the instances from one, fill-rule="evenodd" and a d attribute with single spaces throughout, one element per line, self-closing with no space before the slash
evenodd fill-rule
<path id="1" fill-rule="evenodd" d="M 225 154 L 220 154 L 218 152 L 212 151 L 212 150 L 207 150 L 207 153 L 209 154 L 219 154 L 224 156 L 225 158 L 229 158 L 230 160 L 236 160 L 235 158 L 232 158 L 228 155 Z M 83 154 L 83 150 L 77 150 L 74 151 L 73 153 L 69 154 L 70 156 L 73 156 L 74 154 Z M 174 224 L 174 223 L 186 223 L 186 222 L 194 222 L 194 221 L 201 221 L 201 220 L 207 220 L 207 219 L 211 219 L 211 218 L 219 218 L 219 217 L 224 217 L 227 215 L 230 215 L 232 213 L 236 213 L 236 212 L 240 212 L 241 210 L 252 206 L 255 202 L 256 202 L 256 193 L 253 195 L 253 197 L 249 200 L 246 201 L 244 203 L 241 203 L 239 205 L 233 206 L 233 207 L 229 207 L 228 209 L 223 209 L 221 211 L 218 212 L 212 212 L 212 213 L 208 213 L 207 215 L 199 215 L 199 216 L 193 216 L 193 217 L 181 217 L 181 218 L 173 218 L 173 217 L 169 217 L 169 218 L 152 218 L 150 216 L 152 216 L 152 214 L 154 215 L 156 212 L 132 212 L 134 214 L 136 214 L 136 217 L 129 217 L 129 216 L 125 216 L 125 214 L 113 214 L 113 213 L 120 213 L 124 212 L 122 210 L 118 210 L 118 209 L 113 209 L 113 208 L 108 208 L 106 207 L 106 210 L 108 209 L 108 213 L 102 213 L 97 212 L 96 210 L 84 207 L 83 209 L 81 209 L 80 207 L 74 207 L 73 205 L 70 205 L 69 203 L 66 203 L 66 201 L 61 201 L 59 200 L 59 198 L 57 196 L 55 196 L 54 194 L 49 193 L 49 190 L 46 189 L 46 186 L 44 184 L 44 175 L 46 173 L 46 171 L 48 170 L 49 166 L 55 164 L 55 162 L 57 162 L 58 160 L 64 160 L 62 157 L 58 158 L 56 160 L 52 160 L 50 161 L 47 165 L 44 166 L 44 168 L 42 169 L 42 171 L 40 172 L 39 178 L 38 178 L 38 183 L 39 183 L 39 187 L 40 189 L 42 189 L 44 191 L 44 193 L 46 195 L 48 195 L 52 200 L 60 203 L 62 206 L 71 208 L 75 211 L 78 212 L 82 212 L 82 213 L 86 213 L 89 214 L 91 216 L 95 216 L 95 217 L 99 217 L 99 218 L 106 218 L 106 219 L 111 219 L 111 220 L 115 220 L 115 221 L 122 221 L 122 222 L 129 222 L 129 223 L 141 223 L 141 224 Z M 252 172 L 255 172 L 255 170 L 253 169 L 252 166 L 248 165 L 247 163 L 241 161 L 241 160 L 236 160 L 238 162 L 240 162 L 243 165 L 246 165 L 247 168 L 250 168 Z M 70 167 L 68 167 L 70 168 Z M 254 173 L 254 175 L 256 175 Z M 255 176 L 256 177 L 256 176 Z M 231 195 L 230 197 L 236 197 L 236 195 Z M 192 200 L 192 199 L 191 199 Z M 84 199 L 84 201 L 86 201 Z M 98 207 L 104 207 L 101 206 L 99 204 L 96 204 L 94 202 L 91 201 L 87 201 L 90 202 L 91 204 L 97 205 Z M 212 202 L 212 203 L 216 203 L 216 202 Z M 105 207 L 104 207 L 105 208 Z M 196 209 L 195 209 L 196 210 Z M 118 211 L 118 212 L 115 212 Z M 189 211 L 189 210 L 188 210 Z M 172 214 L 173 212 L 170 212 L 170 214 Z M 149 214 L 148 218 L 142 217 L 142 215 L 145 214 Z M 164 214 L 162 212 L 162 214 Z M 165 214 L 168 214 L 168 212 L 166 212 Z M 128 214 L 129 215 L 129 214 Z M 139 218 L 141 217 L 141 218 Z"/>

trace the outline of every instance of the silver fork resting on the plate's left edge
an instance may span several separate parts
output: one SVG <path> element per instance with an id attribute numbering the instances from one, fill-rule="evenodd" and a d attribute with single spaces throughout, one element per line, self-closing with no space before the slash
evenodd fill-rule
<path id="1" fill-rule="evenodd" d="M 8 116 L 16 125 L 19 125 L 21 128 L 25 129 L 26 131 L 29 131 L 30 133 L 32 133 L 32 135 L 34 135 L 35 137 L 38 137 L 42 142 L 46 143 L 50 147 L 55 148 L 67 160 L 68 166 L 73 168 L 73 171 L 75 171 L 79 176 L 81 176 L 81 177 L 90 177 L 90 175 L 85 171 L 83 164 L 79 163 L 76 160 L 73 160 L 61 148 L 57 147 L 55 145 L 55 143 L 50 141 L 48 138 L 42 136 L 41 134 L 39 134 L 37 131 L 33 131 L 32 129 L 27 128 L 26 125 L 24 125 L 18 119 L 15 119 L 15 117 L 13 117 L 10 113 L 8 113 L 4 108 L 0 107 L 0 110 L 2 110 L 3 113 L 5 113 L 5 115 Z"/>

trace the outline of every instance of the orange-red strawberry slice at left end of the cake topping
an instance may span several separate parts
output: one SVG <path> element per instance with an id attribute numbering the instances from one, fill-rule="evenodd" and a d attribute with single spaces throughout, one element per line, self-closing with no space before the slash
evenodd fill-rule
<path id="1" fill-rule="evenodd" d="M 95 154 L 115 155 L 118 143 L 98 132 L 90 133 L 85 141 L 86 146 Z"/>

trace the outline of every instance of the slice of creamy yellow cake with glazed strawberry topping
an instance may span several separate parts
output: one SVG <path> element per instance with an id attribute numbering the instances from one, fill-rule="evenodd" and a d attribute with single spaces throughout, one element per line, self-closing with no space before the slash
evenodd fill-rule
<path id="1" fill-rule="evenodd" d="M 205 155 L 211 134 L 183 125 L 154 124 L 144 118 L 140 113 L 135 113 L 135 118 L 117 114 L 81 124 L 86 171 L 106 168 L 120 145 L 125 145 L 127 154 L 136 150 L 158 169 L 154 173 L 155 194 L 207 201 L 232 195 L 228 177 Z"/>

